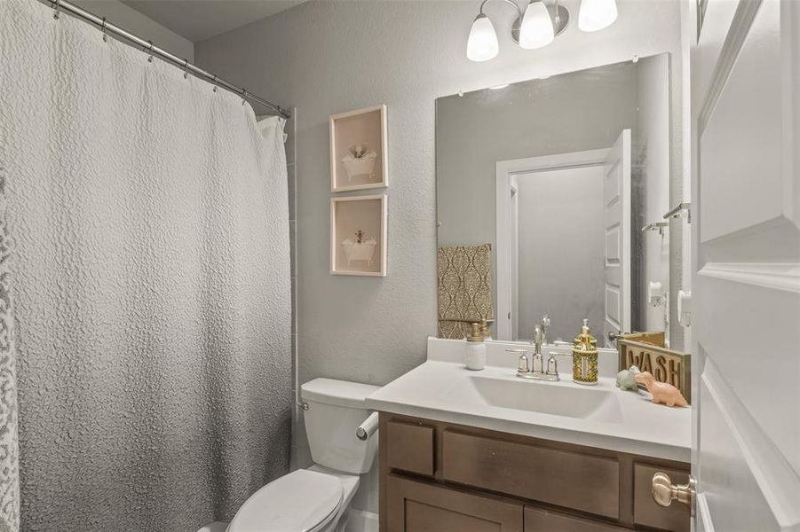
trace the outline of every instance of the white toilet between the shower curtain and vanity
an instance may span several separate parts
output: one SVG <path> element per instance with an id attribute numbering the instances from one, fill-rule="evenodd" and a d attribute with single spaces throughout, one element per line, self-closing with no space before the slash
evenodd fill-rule
<path id="1" fill-rule="evenodd" d="M 378 387 L 313 379 L 300 387 L 305 432 L 314 465 L 258 489 L 227 532 L 341 532 L 359 475 L 375 462 L 377 432 L 361 441 L 356 430 L 368 419 L 367 395 Z"/>

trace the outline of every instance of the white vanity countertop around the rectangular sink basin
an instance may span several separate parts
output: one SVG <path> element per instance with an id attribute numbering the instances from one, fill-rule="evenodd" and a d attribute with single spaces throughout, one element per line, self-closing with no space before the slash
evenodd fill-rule
<path id="1" fill-rule="evenodd" d="M 369 409 L 655 458 L 681 462 L 690 460 L 691 408 L 670 408 L 663 404 L 654 404 L 649 394 L 622 391 L 610 377 L 601 377 L 597 386 L 590 387 L 614 395 L 611 398 L 614 415 L 605 418 L 603 415 L 590 415 L 583 419 L 455 400 L 454 397 L 459 395 L 448 391 L 455 387 L 469 386 L 468 379 L 474 381 L 475 378 L 493 379 L 495 387 L 499 386 L 501 389 L 504 389 L 503 380 L 509 381 L 509 389 L 516 387 L 519 390 L 520 381 L 526 386 L 550 387 L 531 390 L 536 392 L 535 396 L 538 398 L 548 398 L 547 389 L 552 390 L 554 398 L 563 398 L 569 396 L 569 391 L 556 388 L 587 387 L 573 382 L 571 372 L 567 370 L 570 364 L 566 364 L 566 360 L 559 364 L 564 368 L 560 382 L 528 381 L 516 376 L 515 358 L 499 355 L 497 348 L 490 348 L 488 363 L 511 364 L 487 365 L 483 371 L 472 372 L 464 368 L 461 362 L 453 361 L 460 355 L 460 351 L 454 350 L 459 348 L 457 342 L 432 341 L 450 343 L 437 343 L 431 348 L 429 341 L 428 361 L 369 395 Z M 442 345 L 446 351 L 444 354 Z M 609 369 L 604 372 L 601 368 L 600 373 L 602 375 L 609 372 Z M 606 394 L 601 395 L 607 398 Z M 616 407 L 617 403 L 619 409 Z"/>

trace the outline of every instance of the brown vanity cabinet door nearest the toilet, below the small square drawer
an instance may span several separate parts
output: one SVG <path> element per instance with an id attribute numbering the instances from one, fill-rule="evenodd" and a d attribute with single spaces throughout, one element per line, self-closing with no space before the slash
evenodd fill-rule
<path id="1" fill-rule="evenodd" d="M 384 532 L 522 532 L 522 505 L 389 475 Z"/>

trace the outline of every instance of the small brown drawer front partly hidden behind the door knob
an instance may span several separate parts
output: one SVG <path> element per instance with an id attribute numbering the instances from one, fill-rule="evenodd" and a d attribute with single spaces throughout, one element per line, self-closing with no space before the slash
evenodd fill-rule
<path id="1" fill-rule="evenodd" d="M 673 483 L 685 484 L 689 481 L 688 471 L 679 471 L 658 465 L 636 463 L 633 465 L 633 522 L 672 532 L 689 532 L 689 507 L 672 501 L 664 508 L 653 501 L 653 474 L 661 471 L 669 474 Z"/>

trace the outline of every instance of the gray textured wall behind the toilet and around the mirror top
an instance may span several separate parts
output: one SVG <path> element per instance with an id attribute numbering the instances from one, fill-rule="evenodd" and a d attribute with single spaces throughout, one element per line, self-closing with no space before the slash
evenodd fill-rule
<path id="1" fill-rule="evenodd" d="M 562 4 L 570 27 L 536 51 L 506 35 L 507 6 L 487 4 L 501 53 L 481 64 L 465 57 L 478 0 L 312 1 L 195 44 L 200 66 L 297 106 L 300 382 L 323 376 L 380 385 L 424 361 L 425 337 L 436 332 L 436 98 L 680 51 L 674 0 L 620 0 L 619 20 L 591 34 L 576 27 L 579 0 Z M 672 84 L 680 88 L 679 75 Z M 331 276 L 328 117 L 376 104 L 389 109 L 389 276 Z M 673 112 L 679 119 L 680 106 Z M 308 461 L 302 423 L 297 428 L 304 456 L 296 465 Z M 376 508 L 374 499 L 362 503 Z"/>

